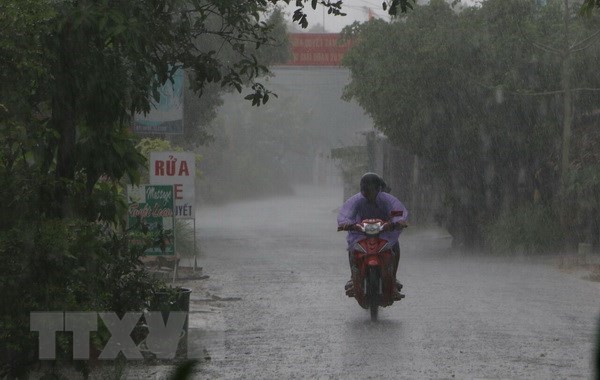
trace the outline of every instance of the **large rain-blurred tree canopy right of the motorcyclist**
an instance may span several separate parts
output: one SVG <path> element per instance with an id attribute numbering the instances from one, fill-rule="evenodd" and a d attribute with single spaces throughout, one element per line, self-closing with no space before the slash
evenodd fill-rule
<path id="1" fill-rule="evenodd" d="M 598 20 L 570 11 L 569 46 L 582 49 L 571 52 L 566 73 L 562 1 L 488 0 L 457 13 L 433 0 L 396 22 L 346 31 L 356 43 L 344 60 L 352 75 L 345 97 L 426 159 L 459 242 L 479 244 L 486 224 L 531 200 L 541 172 L 548 205 L 558 193 L 564 78 L 575 128 L 600 101 Z"/>

